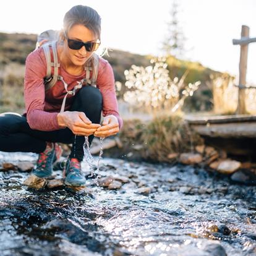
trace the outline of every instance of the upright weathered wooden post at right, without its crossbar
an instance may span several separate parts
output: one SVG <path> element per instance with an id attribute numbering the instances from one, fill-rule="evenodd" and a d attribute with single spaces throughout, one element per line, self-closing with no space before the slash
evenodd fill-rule
<path id="1" fill-rule="evenodd" d="M 249 38 L 249 27 L 242 25 L 241 39 Z M 248 56 L 248 43 L 241 44 L 240 62 L 239 62 L 239 86 L 246 85 L 246 71 L 247 71 L 247 56 Z M 238 90 L 238 105 L 236 114 L 246 114 L 245 106 L 245 89 L 239 88 Z"/>

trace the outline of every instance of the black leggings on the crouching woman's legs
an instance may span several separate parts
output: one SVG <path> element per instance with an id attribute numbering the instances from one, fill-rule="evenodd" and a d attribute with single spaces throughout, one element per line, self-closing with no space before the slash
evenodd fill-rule
<path id="1" fill-rule="evenodd" d="M 95 124 L 100 124 L 102 96 L 100 90 L 95 87 L 86 86 L 79 90 L 74 96 L 74 103 L 70 111 L 81 111 Z M 72 143 L 70 158 L 83 160 L 84 136 L 75 135 L 69 128 L 45 132 L 33 130 L 28 126 L 27 118 L 15 114 L 3 114 L 0 116 L 0 151 L 7 152 L 43 152 L 46 142 Z M 89 136 L 92 143 L 93 135 Z"/>

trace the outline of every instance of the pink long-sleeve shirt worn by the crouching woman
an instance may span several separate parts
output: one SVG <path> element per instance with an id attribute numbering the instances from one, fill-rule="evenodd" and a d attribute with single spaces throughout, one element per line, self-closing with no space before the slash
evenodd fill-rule
<path id="1" fill-rule="evenodd" d="M 85 71 L 81 75 L 70 75 L 61 66 L 59 75 L 68 84 L 68 90 L 72 90 L 77 82 L 85 77 Z M 38 48 L 30 53 L 26 59 L 24 98 L 27 121 L 30 128 L 35 130 L 59 130 L 57 115 L 61 110 L 62 100 L 66 90 L 62 81 L 45 92 L 44 77 L 46 77 L 46 58 L 43 48 Z M 117 117 L 119 127 L 122 127 L 122 119 L 118 113 L 116 92 L 114 88 L 114 74 L 109 62 L 99 58 L 98 77 L 96 86 L 103 96 L 103 116 L 113 114 Z M 78 92 L 78 90 L 76 91 Z M 74 96 L 67 95 L 65 111 L 72 106 Z"/>

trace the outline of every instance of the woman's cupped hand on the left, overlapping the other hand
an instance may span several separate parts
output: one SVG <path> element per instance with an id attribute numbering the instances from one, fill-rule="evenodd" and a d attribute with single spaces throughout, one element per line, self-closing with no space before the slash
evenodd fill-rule
<path id="1" fill-rule="evenodd" d="M 59 113 L 57 118 L 59 126 L 68 127 L 75 135 L 92 135 L 101 126 L 92 124 L 85 113 L 79 111 L 64 111 Z"/>

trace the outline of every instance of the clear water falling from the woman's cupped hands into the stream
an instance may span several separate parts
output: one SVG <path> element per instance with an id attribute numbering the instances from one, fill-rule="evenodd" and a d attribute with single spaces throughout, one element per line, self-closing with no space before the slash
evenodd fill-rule
<path id="1" fill-rule="evenodd" d="M 87 162 L 87 164 L 90 168 L 91 175 L 89 177 L 95 177 L 95 183 L 97 186 L 99 186 L 98 179 L 101 177 L 100 174 L 98 174 L 98 173 L 100 171 L 100 160 L 102 159 L 102 155 L 103 155 L 103 140 L 104 140 L 104 138 L 100 137 L 100 154 L 98 156 L 98 162 L 96 164 L 95 164 L 95 160 L 90 152 L 90 144 L 89 144 L 89 140 L 88 140 L 87 136 L 85 136 L 85 143 L 83 143 L 83 153 L 84 153 L 83 159 Z M 97 166 L 96 172 L 93 168 L 94 166 Z"/>

